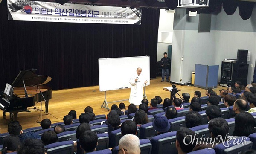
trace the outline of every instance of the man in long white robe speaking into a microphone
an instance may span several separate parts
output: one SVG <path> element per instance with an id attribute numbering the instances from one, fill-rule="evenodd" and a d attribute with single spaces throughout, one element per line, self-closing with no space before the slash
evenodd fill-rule
<path id="1" fill-rule="evenodd" d="M 143 99 L 143 87 L 145 87 L 148 83 L 144 76 L 140 75 L 141 71 L 141 68 L 137 68 L 137 73 L 132 75 L 129 81 L 131 84 L 129 102 L 136 106 L 141 104 L 141 100 Z"/>

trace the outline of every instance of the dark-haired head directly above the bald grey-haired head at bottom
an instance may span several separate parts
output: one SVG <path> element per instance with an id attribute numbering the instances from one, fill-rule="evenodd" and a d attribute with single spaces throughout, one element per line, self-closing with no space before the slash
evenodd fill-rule
<path id="1" fill-rule="evenodd" d="M 137 135 L 137 126 L 134 121 L 126 120 L 121 125 L 122 135 L 134 134 Z"/>

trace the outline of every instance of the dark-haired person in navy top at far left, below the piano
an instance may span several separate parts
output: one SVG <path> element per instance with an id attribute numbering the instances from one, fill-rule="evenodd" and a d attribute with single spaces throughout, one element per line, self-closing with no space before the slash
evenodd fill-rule
<path id="1" fill-rule="evenodd" d="M 39 135 L 35 134 L 33 131 L 23 133 L 22 126 L 18 121 L 12 121 L 8 125 L 8 132 L 9 134 L 18 135 L 18 137 L 20 138 L 20 141 L 23 141 L 27 138 L 37 139 L 40 137 Z"/>

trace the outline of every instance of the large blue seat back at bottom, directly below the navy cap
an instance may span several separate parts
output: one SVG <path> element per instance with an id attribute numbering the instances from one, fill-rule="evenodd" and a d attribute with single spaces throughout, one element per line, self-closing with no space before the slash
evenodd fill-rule
<path id="1" fill-rule="evenodd" d="M 176 133 L 177 131 L 167 132 L 152 137 L 152 154 L 166 154 L 167 150 L 172 151 L 172 154 L 178 154 L 178 151 L 175 147 Z"/>

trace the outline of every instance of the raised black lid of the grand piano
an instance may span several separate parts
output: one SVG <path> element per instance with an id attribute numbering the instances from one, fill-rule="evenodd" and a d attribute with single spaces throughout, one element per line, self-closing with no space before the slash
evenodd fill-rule
<path id="1" fill-rule="evenodd" d="M 15 80 L 12 82 L 13 87 L 24 87 L 23 79 L 26 86 L 43 85 L 52 80 L 49 76 L 40 76 L 35 74 L 36 69 L 20 70 Z"/>

